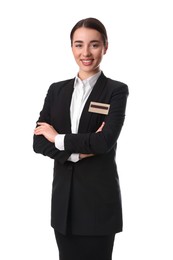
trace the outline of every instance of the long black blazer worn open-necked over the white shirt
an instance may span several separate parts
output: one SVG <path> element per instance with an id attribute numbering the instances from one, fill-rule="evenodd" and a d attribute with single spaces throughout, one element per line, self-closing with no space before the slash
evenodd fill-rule
<path id="1" fill-rule="evenodd" d="M 51 225 L 66 234 L 68 214 L 73 234 L 107 235 L 122 231 L 122 205 L 115 162 L 117 139 L 128 96 L 126 84 L 105 77 L 97 80 L 80 118 L 78 134 L 71 133 L 70 103 L 74 79 L 53 83 L 38 121 L 51 124 L 65 135 L 59 151 L 44 136 L 35 136 L 33 149 L 54 159 Z M 110 104 L 108 115 L 88 112 L 90 102 Z M 105 121 L 102 132 L 95 133 Z M 92 153 L 76 163 L 71 153 Z"/>

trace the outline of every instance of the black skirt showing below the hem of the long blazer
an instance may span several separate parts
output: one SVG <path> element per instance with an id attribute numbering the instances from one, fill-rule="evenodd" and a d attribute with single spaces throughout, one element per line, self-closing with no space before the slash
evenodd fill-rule
<path id="1" fill-rule="evenodd" d="M 62 235 L 55 230 L 59 260 L 111 260 L 115 234 L 108 236 Z"/>

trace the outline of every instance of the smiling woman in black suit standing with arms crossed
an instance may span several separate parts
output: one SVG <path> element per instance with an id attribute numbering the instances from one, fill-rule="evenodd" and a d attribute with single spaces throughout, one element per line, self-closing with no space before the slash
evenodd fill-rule
<path id="1" fill-rule="evenodd" d="M 54 159 L 51 225 L 60 260 L 110 260 L 122 231 L 115 154 L 128 87 L 100 69 L 108 38 L 99 20 L 79 21 L 70 37 L 79 71 L 50 86 L 33 148 Z"/>

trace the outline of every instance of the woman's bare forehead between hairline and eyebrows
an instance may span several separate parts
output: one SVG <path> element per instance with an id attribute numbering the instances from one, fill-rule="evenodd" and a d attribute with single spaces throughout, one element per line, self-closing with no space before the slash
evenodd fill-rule
<path id="1" fill-rule="evenodd" d="M 102 41 L 102 35 L 100 32 L 90 28 L 78 28 L 73 35 L 73 42 L 74 41 Z"/>

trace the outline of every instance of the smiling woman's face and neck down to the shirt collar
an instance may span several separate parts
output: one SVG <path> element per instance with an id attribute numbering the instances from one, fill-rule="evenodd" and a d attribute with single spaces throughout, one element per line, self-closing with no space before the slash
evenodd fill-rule
<path id="1" fill-rule="evenodd" d="M 100 32 L 78 28 L 73 35 L 72 52 L 79 66 L 79 77 L 86 79 L 100 70 L 100 63 L 107 51 Z"/>

